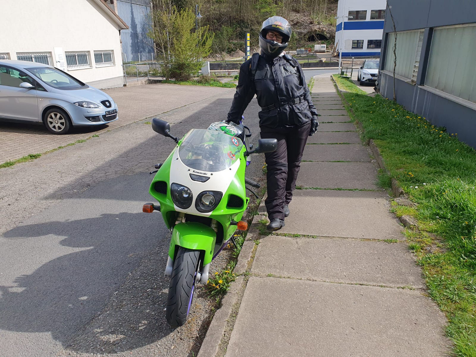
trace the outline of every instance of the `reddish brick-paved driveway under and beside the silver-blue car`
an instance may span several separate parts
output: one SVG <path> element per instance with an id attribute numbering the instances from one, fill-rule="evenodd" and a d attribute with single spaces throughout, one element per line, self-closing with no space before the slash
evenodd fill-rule
<path id="1" fill-rule="evenodd" d="M 0 163 L 56 149 L 76 140 L 86 139 L 91 135 L 156 116 L 230 90 L 235 89 L 176 84 L 149 84 L 105 90 L 119 106 L 119 119 L 108 124 L 104 129 L 74 128 L 67 135 L 50 134 L 42 125 L 0 122 Z"/>

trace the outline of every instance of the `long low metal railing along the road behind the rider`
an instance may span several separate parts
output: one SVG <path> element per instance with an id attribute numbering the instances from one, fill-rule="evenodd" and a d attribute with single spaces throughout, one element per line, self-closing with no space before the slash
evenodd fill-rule
<path id="1" fill-rule="evenodd" d="M 342 66 L 360 67 L 364 60 L 378 60 L 380 57 L 342 57 Z M 311 67 L 339 67 L 338 57 L 328 58 L 296 58 L 302 68 Z M 244 60 L 210 61 L 210 70 L 238 70 Z"/>

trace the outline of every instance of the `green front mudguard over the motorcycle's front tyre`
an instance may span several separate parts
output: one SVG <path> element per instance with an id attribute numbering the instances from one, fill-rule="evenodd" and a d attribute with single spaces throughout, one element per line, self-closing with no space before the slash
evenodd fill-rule
<path id="1" fill-rule="evenodd" d="M 213 249 L 217 235 L 215 231 L 197 222 L 179 223 L 172 230 L 169 257 L 175 257 L 176 246 L 205 252 L 203 264 L 208 264 L 213 258 Z"/>

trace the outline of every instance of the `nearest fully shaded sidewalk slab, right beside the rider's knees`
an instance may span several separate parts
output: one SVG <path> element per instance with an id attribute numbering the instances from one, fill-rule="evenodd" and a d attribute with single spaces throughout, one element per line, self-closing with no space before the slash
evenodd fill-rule
<path id="1" fill-rule="evenodd" d="M 318 188 L 376 189 L 377 171 L 371 162 L 303 162 L 297 186 Z"/>

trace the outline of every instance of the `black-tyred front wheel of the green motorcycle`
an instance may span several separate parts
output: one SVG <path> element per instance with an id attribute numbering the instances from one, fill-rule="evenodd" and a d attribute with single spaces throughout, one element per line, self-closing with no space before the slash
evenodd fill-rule
<path id="1" fill-rule="evenodd" d="M 187 321 L 197 284 L 197 273 L 200 269 L 199 258 L 198 250 L 178 248 L 170 277 L 169 297 L 165 312 L 167 322 L 173 328 L 182 326 Z"/>

